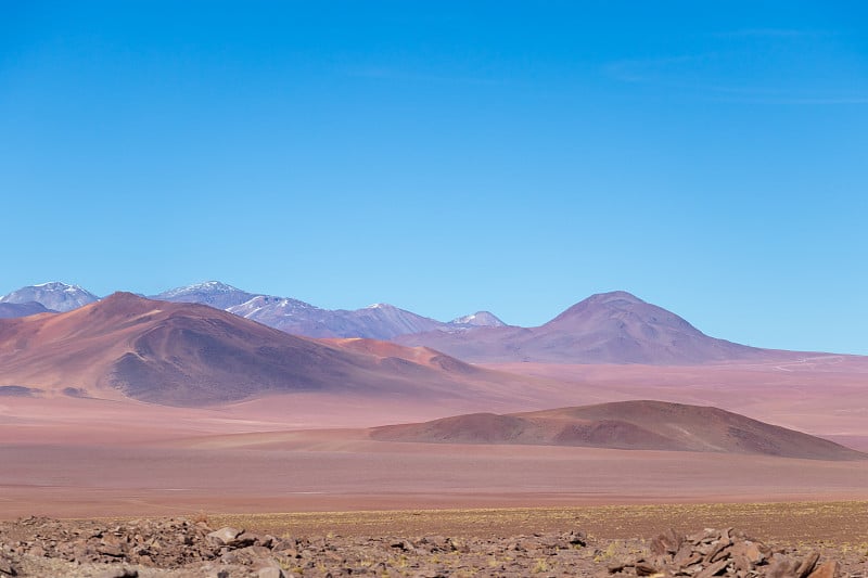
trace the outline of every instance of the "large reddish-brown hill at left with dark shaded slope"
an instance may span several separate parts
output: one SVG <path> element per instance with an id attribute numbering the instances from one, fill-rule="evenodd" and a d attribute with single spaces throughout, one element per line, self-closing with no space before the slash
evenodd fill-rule
<path id="1" fill-rule="evenodd" d="M 293 391 L 423 400 L 472 395 L 468 371 L 483 381 L 500 375 L 435 351 L 384 346 L 388 355 L 374 356 L 202 305 L 117 293 L 67 313 L 0 320 L 0 385 L 196 406 Z"/>

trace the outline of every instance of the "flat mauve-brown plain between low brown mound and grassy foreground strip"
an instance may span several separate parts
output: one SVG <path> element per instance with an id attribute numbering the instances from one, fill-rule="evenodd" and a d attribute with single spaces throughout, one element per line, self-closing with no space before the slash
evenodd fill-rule
<path id="1" fill-rule="evenodd" d="M 3 517 L 868 499 L 868 461 L 394 444 L 359 431 L 7 444 Z"/>

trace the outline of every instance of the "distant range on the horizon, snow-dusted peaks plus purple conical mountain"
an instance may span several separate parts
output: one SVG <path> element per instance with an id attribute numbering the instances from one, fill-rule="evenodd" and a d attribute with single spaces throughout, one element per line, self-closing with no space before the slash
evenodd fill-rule
<path id="1" fill-rule="evenodd" d="M 254 294 L 217 281 L 159 293 L 156 300 L 207 305 L 284 333 L 319 338 L 388 339 L 429 347 L 473 363 L 697 364 L 731 360 L 789 359 L 792 352 L 748 347 L 710 337 L 685 319 L 627 292 L 592 295 L 534 327 L 507 325 L 488 311 L 437 321 L 387 304 L 362 309 L 323 309 L 289 297 Z M 24 301 L 68 311 L 97 297 L 75 285 L 24 287 L 0 304 Z M 40 312 L 20 307 L 0 314 Z"/>

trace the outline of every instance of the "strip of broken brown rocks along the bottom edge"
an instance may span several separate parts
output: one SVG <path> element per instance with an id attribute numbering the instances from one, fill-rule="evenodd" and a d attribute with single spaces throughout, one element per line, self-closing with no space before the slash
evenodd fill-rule
<path id="1" fill-rule="evenodd" d="M 510 538 L 301 538 L 204 521 L 115 524 L 29 517 L 0 523 L 0 577 L 868 576 L 866 553 L 773 547 L 742 532 L 668 530 L 649 541 L 583 532 Z"/>

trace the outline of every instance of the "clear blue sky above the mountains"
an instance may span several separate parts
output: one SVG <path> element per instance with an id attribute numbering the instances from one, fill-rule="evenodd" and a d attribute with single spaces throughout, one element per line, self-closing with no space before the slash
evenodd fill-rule
<path id="1" fill-rule="evenodd" d="M 861 2 L 0 1 L 0 294 L 219 279 L 868 354 Z"/>

